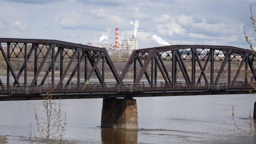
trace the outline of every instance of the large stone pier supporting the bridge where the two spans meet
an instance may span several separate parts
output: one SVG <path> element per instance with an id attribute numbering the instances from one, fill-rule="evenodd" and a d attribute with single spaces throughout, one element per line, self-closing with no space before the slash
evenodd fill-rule
<path id="1" fill-rule="evenodd" d="M 101 127 L 138 129 L 136 99 L 104 98 Z"/>

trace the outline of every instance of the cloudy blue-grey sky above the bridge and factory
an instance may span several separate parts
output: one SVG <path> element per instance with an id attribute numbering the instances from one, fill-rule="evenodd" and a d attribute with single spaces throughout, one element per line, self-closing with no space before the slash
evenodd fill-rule
<path id="1" fill-rule="evenodd" d="M 0 0 L 0 37 L 115 43 L 136 34 L 138 48 L 225 45 L 248 49 L 256 0 Z M 137 31 L 137 32 L 136 32 Z M 102 38 L 102 37 L 101 37 Z M 256 43 L 254 47 L 256 47 Z"/>

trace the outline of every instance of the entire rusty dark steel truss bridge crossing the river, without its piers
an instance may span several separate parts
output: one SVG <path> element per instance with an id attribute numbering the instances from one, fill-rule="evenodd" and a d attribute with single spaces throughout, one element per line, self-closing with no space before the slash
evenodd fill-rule
<path id="1" fill-rule="evenodd" d="M 56 98 L 70 99 L 255 91 L 255 55 L 250 50 L 230 46 L 173 45 L 134 50 L 120 76 L 103 48 L 57 40 L 0 38 L 0 51 L 0 61 L 7 67 L 6 83 L 0 79 L 1 101 L 43 99 L 47 92 Z M 16 61 L 22 62 L 18 72 L 14 71 Z M 235 73 L 232 64 L 237 66 Z M 29 82 L 28 66 L 33 67 Z M 59 67 L 59 80 L 54 77 L 57 75 L 56 66 Z M 105 66 L 115 82 L 105 82 Z M 133 70 L 134 81 L 123 82 L 129 68 Z M 227 70 L 226 78 L 220 80 L 224 70 Z M 164 80 L 162 82 L 157 80 L 158 71 Z M 69 72 L 72 73 L 69 75 Z M 216 72 L 217 75 L 214 75 Z M 182 73 L 183 81 L 177 80 L 177 73 Z M 197 78 L 196 73 L 199 75 Z M 243 73 L 247 76 L 238 81 L 239 74 Z M 99 82 L 90 83 L 93 74 Z M 41 81 L 38 80 L 39 75 L 43 75 Z M 71 83 L 75 75 L 77 82 Z M 24 78 L 20 80 L 22 76 Z M 147 81 L 141 81 L 143 76 Z M 84 80 L 81 81 L 81 77 Z"/>

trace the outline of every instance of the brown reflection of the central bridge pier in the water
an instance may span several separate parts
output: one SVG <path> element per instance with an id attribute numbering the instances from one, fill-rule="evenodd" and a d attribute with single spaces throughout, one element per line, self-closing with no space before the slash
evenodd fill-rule
<path id="1" fill-rule="evenodd" d="M 103 144 L 109 143 L 137 143 L 138 130 L 101 128 Z"/>

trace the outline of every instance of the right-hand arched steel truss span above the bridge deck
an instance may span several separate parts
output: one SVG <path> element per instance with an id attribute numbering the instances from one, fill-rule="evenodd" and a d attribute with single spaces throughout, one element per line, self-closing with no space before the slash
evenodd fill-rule
<path id="1" fill-rule="evenodd" d="M 225 80 L 228 84 L 234 85 L 239 74 L 245 74 L 245 72 L 250 76 L 249 80 L 256 81 L 253 65 L 255 59 L 251 50 L 230 46 L 173 45 L 139 49 L 131 54 L 120 78 L 123 80 L 129 67 L 134 64 L 135 84 L 141 81 L 142 76 L 145 76 L 151 84 L 157 83 L 158 71 L 166 83 L 177 83 L 177 73 L 182 73 L 181 79 L 184 79 L 187 84 L 201 81 L 218 83 L 225 70 L 227 71 Z M 137 62 L 140 65 L 138 74 Z M 234 69 L 236 69 L 235 72 Z M 241 70 L 244 71 L 241 72 Z M 245 78 L 244 81 L 247 83 L 248 79 Z"/>

